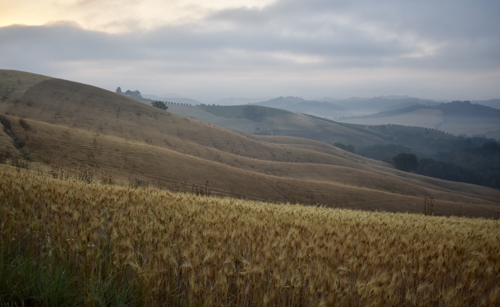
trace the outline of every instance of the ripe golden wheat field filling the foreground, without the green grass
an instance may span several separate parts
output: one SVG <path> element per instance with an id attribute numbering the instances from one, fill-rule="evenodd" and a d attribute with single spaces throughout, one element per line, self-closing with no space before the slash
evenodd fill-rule
<path id="1" fill-rule="evenodd" d="M 500 305 L 497 220 L 205 197 L 2 167 L 1 249 L 64 266 L 83 293 L 77 305 L 106 305 L 96 291 L 124 293 L 107 305 Z M 20 305 L 12 293 L 21 289 L 0 282 L 0 302 Z"/>

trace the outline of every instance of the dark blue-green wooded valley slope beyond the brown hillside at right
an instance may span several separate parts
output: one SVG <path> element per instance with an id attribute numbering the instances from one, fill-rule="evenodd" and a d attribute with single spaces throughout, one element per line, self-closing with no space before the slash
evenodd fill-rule
<path id="1" fill-rule="evenodd" d="M 455 101 L 454 103 L 456 103 Z M 465 105 L 475 104 L 461 102 Z M 446 105 L 447 103 L 443 103 Z M 480 105 L 479 111 L 493 109 Z M 372 159 L 394 163 L 400 153 L 411 153 L 418 158 L 415 173 L 451 181 L 480 184 L 500 188 L 500 145 L 492 138 L 455 136 L 441 130 L 396 124 L 363 125 L 336 122 L 308 115 L 371 134 L 392 142 L 355 148 L 348 144 L 334 144 Z M 397 166 L 397 165 L 396 165 Z"/>

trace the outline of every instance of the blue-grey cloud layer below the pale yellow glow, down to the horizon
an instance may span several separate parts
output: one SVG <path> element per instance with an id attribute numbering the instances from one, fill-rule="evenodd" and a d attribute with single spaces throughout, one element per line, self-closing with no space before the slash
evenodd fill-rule
<path id="1" fill-rule="evenodd" d="M 0 28 L 0 65 L 67 77 L 100 71 L 106 75 L 100 79 L 121 82 L 127 79 L 124 73 L 134 72 L 130 80 L 141 77 L 137 86 L 143 83 L 156 92 L 168 83 L 177 89 L 167 91 L 189 91 L 189 85 L 190 93 L 198 95 L 211 91 L 212 96 L 241 96 L 261 88 L 254 93 L 261 96 L 274 94 L 272 84 L 283 94 L 289 88 L 317 96 L 334 95 L 337 84 L 350 86 L 352 95 L 359 87 L 371 88 L 369 93 L 378 87 L 384 92 L 373 94 L 405 89 L 413 90 L 404 92 L 408 94 L 448 98 L 465 85 L 471 93 L 479 92 L 466 79 L 471 72 L 474 80 L 482 80 L 483 92 L 484 84 L 498 80 L 498 12 L 496 0 L 281 0 L 261 9 L 224 9 L 196 22 L 118 34 L 63 22 L 12 25 Z M 357 77 L 351 72 L 346 85 L 337 74 L 349 69 L 358 69 Z M 387 69 L 401 72 L 391 76 Z M 377 71 L 387 83 L 373 76 Z M 418 73 L 420 83 L 411 75 L 401 79 L 404 71 Z M 426 91 L 424 86 L 436 82 L 436 71 L 443 79 L 454 77 L 465 84 L 444 82 L 441 91 Z M 232 81 L 227 83 L 229 75 Z M 92 84 L 111 86 L 100 79 Z M 195 83 L 180 83 L 189 80 Z M 217 80 L 231 89 L 214 86 Z M 487 87 L 485 93 L 500 96 L 496 87 Z"/>

